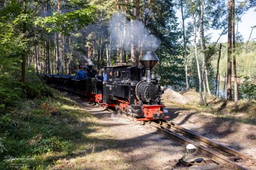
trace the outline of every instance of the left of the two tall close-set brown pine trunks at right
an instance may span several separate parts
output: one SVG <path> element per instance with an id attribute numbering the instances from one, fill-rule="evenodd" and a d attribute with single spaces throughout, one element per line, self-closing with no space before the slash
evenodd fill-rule
<path id="1" fill-rule="evenodd" d="M 232 0 L 229 0 L 228 18 L 228 67 L 226 74 L 226 99 L 232 100 L 231 76 L 232 76 Z"/>

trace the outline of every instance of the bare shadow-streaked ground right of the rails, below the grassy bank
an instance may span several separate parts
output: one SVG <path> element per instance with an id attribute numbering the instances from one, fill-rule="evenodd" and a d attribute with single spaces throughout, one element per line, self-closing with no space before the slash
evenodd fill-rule
<path id="1" fill-rule="evenodd" d="M 194 113 L 184 108 L 168 108 L 171 121 L 256 159 L 256 126 L 243 124 L 209 113 Z"/>

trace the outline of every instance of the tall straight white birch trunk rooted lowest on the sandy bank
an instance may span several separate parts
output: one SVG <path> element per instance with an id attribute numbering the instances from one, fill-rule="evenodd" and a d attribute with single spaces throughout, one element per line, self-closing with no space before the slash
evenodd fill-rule
<path id="1" fill-rule="evenodd" d="M 207 104 L 206 100 L 206 86 L 205 86 L 205 44 L 204 44 L 204 0 L 202 2 L 201 8 L 200 8 L 200 45 L 202 50 L 202 80 L 203 80 L 203 88 L 204 88 L 204 105 Z"/>

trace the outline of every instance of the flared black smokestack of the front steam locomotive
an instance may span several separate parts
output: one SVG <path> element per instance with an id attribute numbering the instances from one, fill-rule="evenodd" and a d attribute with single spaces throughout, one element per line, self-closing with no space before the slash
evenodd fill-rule
<path id="1" fill-rule="evenodd" d="M 146 68 L 146 78 L 147 82 L 151 80 L 151 70 L 155 67 L 156 63 L 158 63 L 159 59 L 154 52 L 146 52 L 144 53 L 140 62 Z"/>

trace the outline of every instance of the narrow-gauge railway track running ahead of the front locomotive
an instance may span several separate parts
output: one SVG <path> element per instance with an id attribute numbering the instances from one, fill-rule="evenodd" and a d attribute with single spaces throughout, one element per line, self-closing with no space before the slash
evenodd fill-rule
<path id="1" fill-rule="evenodd" d="M 130 120 L 136 121 L 135 117 L 126 115 Z M 224 146 L 221 143 L 213 141 L 207 137 L 203 137 L 194 131 L 182 128 L 179 125 L 173 124 L 169 121 L 144 121 L 144 125 L 156 129 L 174 138 L 184 144 L 192 144 L 196 150 L 212 159 L 213 162 L 219 165 L 224 165 L 229 169 L 256 169 L 256 160 L 243 155 L 241 152 L 233 150 L 230 147 Z M 219 167 L 220 168 L 220 167 Z M 223 167 L 222 167 L 223 168 Z"/>

